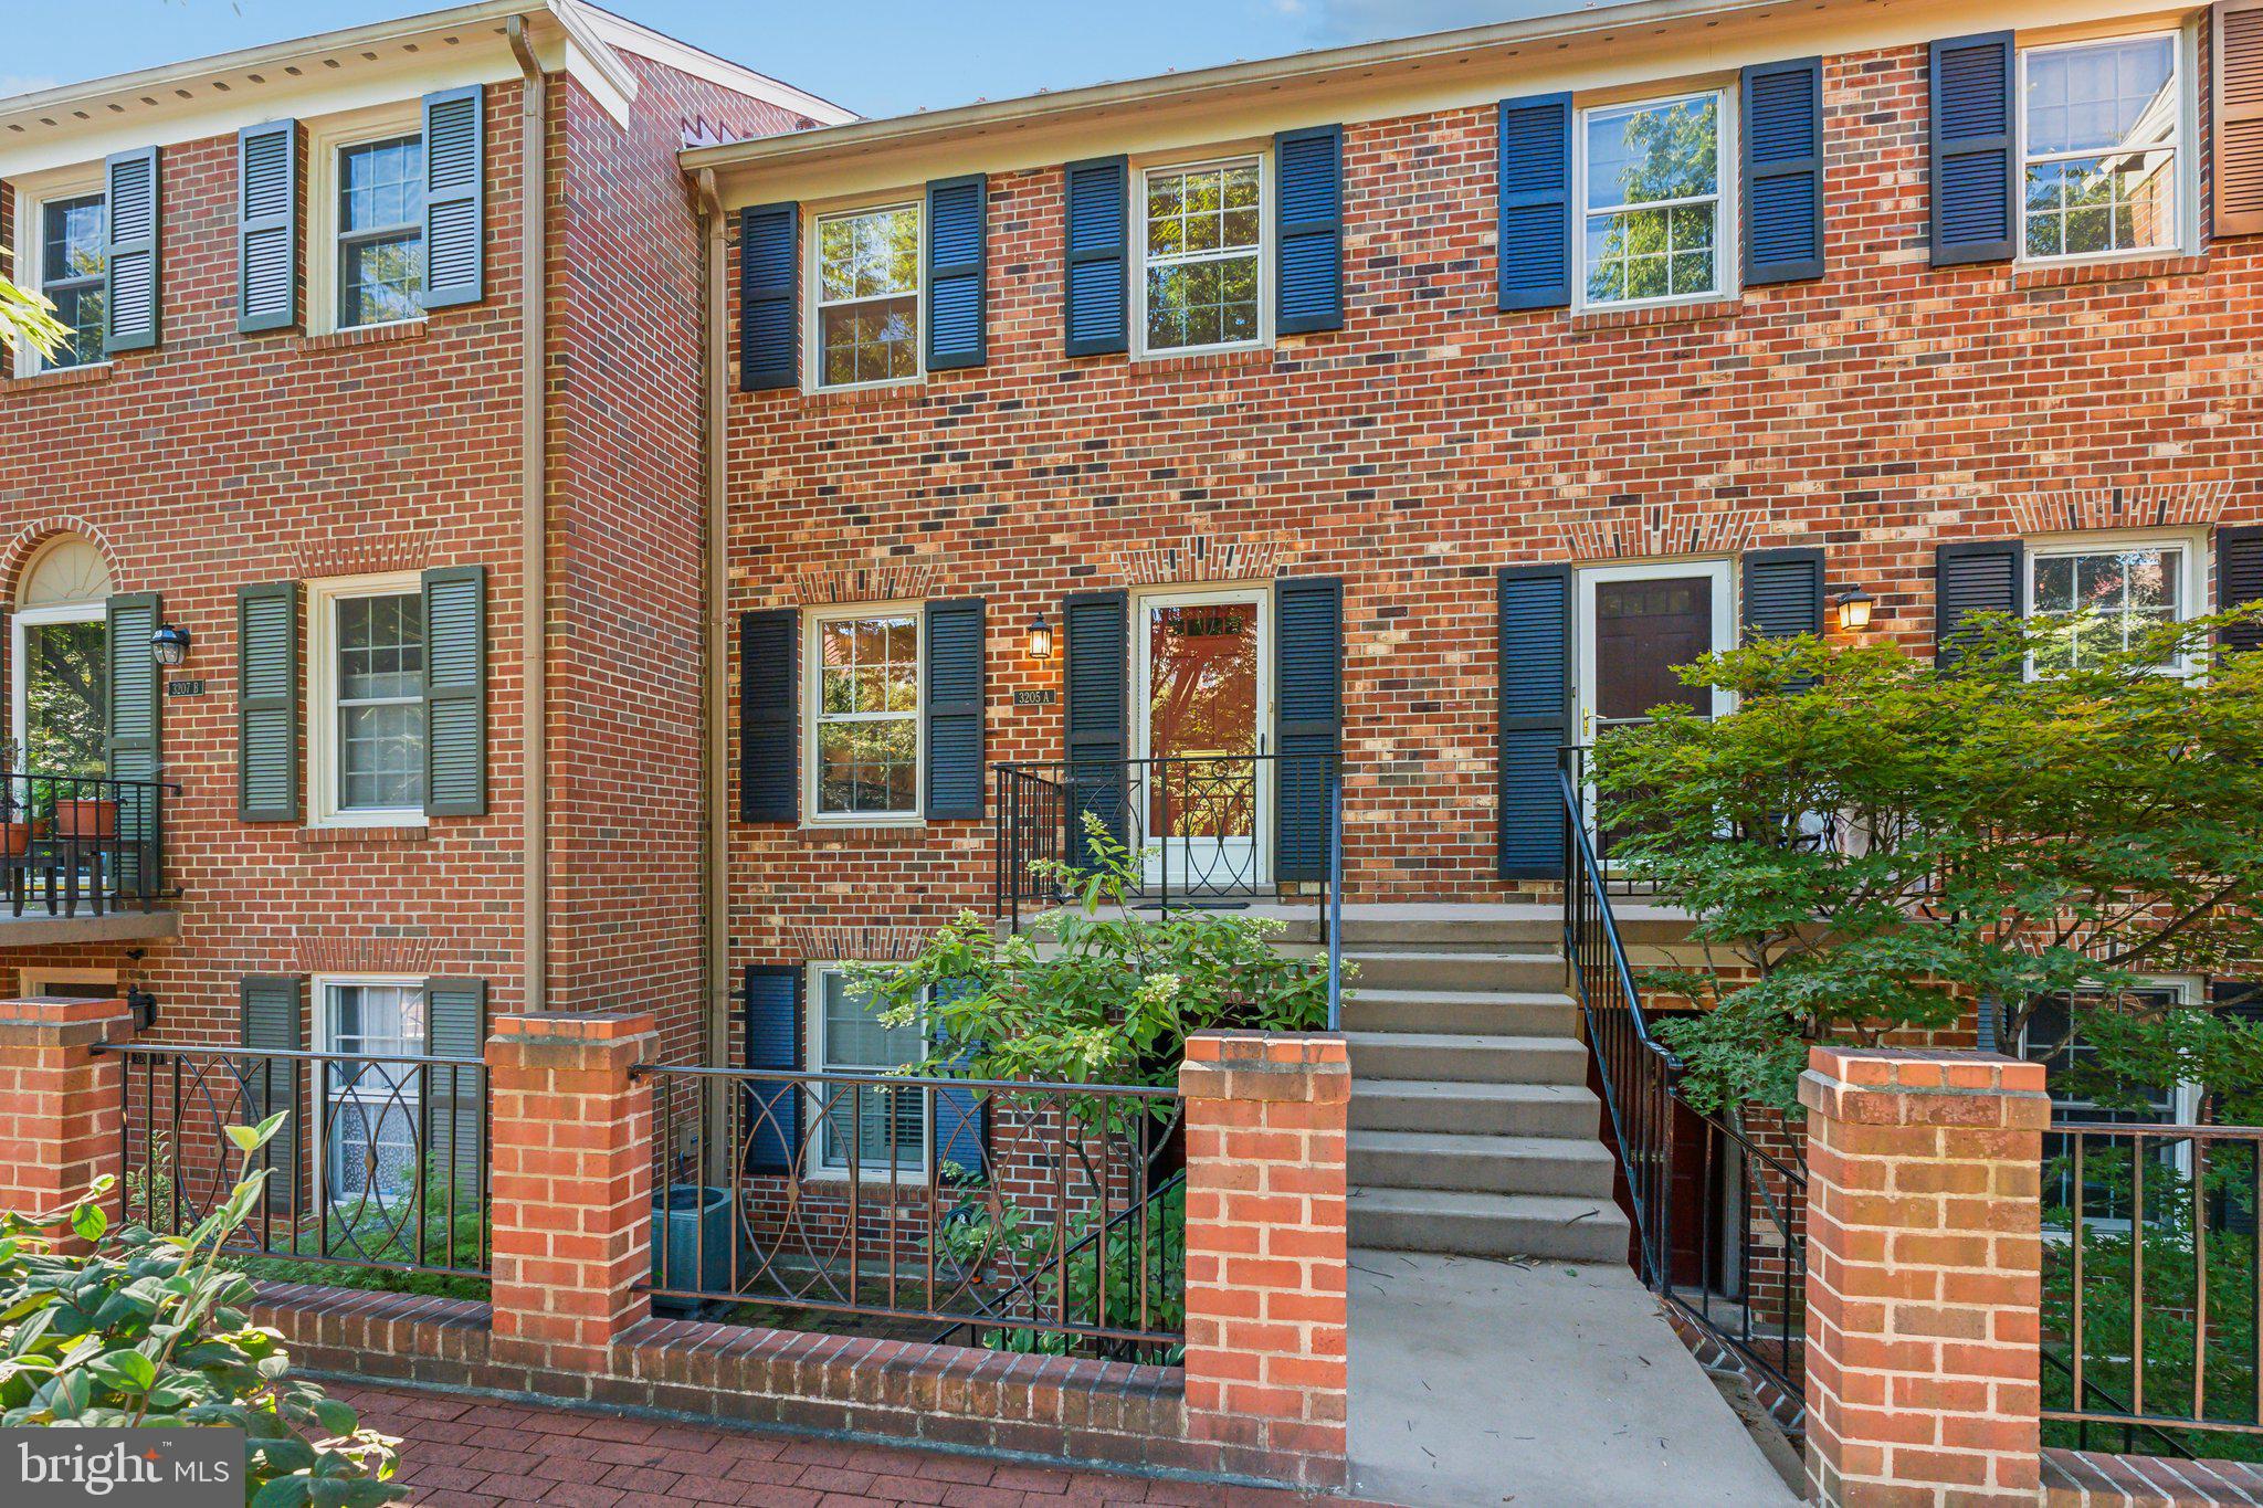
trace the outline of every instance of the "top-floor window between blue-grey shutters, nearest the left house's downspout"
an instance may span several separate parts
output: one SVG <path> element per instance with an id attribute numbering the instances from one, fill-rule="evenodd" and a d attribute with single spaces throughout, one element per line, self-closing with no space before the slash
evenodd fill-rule
<path id="1" fill-rule="evenodd" d="M 308 127 L 308 330 L 423 319 L 423 106 Z"/>

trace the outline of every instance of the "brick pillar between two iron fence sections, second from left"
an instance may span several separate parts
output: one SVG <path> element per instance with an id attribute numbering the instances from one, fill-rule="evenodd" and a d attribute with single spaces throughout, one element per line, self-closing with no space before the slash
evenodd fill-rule
<path id="1" fill-rule="evenodd" d="M 487 1040 L 496 1359 L 602 1372 L 652 1314 L 649 1013 L 505 1015 Z"/>

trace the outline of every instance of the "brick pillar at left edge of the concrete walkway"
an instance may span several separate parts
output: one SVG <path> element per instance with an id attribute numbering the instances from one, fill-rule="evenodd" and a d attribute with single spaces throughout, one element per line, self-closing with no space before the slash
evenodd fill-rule
<path id="1" fill-rule="evenodd" d="M 1344 1038 L 1204 1031 L 1186 1101 L 1186 1427 L 1215 1467 L 1346 1479 Z"/>

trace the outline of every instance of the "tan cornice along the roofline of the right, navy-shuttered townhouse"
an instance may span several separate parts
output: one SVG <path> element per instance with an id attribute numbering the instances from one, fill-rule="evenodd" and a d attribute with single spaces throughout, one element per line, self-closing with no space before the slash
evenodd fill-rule
<path id="1" fill-rule="evenodd" d="M 2195 7 L 2197 9 L 2197 7 Z M 1503 97 L 1645 88 L 1749 63 L 1919 45 L 1976 29 L 2114 23 L 2127 0 L 1636 0 L 1568 16 L 1095 84 L 683 154 L 726 208 L 849 197 L 966 172 L 1181 151 Z"/>

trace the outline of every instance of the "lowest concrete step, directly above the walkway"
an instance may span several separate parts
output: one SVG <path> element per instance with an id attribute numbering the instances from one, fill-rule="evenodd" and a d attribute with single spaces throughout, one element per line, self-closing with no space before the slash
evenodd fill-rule
<path id="1" fill-rule="evenodd" d="M 1627 1216 L 1609 1196 L 1353 1189 L 1351 1243 L 1457 1257 L 1625 1262 Z"/>

